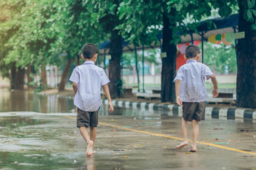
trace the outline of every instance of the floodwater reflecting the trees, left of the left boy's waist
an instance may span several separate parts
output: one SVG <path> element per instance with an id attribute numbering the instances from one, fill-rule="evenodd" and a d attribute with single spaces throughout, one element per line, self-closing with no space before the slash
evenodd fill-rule
<path id="1" fill-rule="evenodd" d="M 33 91 L 0 89 L 0 112 L 66 113 L 74 108 L 72 98 L 60 98 L 55 95 L 41 96 Z"/>

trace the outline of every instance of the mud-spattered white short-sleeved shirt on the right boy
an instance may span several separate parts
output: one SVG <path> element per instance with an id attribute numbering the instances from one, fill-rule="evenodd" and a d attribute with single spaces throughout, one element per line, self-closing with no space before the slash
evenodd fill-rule
<path id="1" fill-rule="evenodd" d="M 196 60 L 188 60 L 177 72 L 174 79 L 181 80 L 180 96 L 184 102 L 201 102 L 206 101 L 207 91 L 205 84 L 206 79 L 210 79 L 213 72 L 206 64 Z"/>

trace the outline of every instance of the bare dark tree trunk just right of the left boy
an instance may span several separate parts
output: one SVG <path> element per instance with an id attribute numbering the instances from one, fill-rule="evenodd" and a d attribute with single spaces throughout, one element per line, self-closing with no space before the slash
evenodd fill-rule
<path id="1" fill-rule="evenodd" d="M 112 30 L 110 38 L 110 94 L 112 98 L 122 96 L 122 79 L 121 79 L 121 56 L 122 56 L 122 36 L 118 35 L 119 30 Z"/>

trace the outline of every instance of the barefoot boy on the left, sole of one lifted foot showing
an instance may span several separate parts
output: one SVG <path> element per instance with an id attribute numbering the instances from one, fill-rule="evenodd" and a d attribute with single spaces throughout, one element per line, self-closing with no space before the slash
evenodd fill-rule
<path id="1" fill-rule="evenodd" d="M 98 111 L 101 106 L 100 87 L 109 101 L 109 111 L 114 111 L 107 78 L 104 70 L 95 65 L 97 60 L 97 47 L 94 44 L 85 44 L 82 47 L 84 64 L 75 67 L 70 81 L 73 81 L 75 91 L 74 104 L 78 107 L 77 127 L 82 137 L 87 142 L 86 157 L 95 154 L 94 144 L 97 133 Z M 87 128 L 90 127 L 90 135 Z"/>

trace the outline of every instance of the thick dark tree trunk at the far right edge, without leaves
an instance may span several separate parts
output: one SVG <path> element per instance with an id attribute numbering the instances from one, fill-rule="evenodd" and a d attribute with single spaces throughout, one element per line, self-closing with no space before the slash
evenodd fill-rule
<path id="1" fill-rule="evenodd" d="M 242 0 L 238 1 L 239 32 L 245 31 L 245 38 L 238 40 L 238 76 L 237 102 L 238 108 L 256 108 L 256 31 L 251 30 L 252 23 L 245 21 Z"/>

